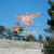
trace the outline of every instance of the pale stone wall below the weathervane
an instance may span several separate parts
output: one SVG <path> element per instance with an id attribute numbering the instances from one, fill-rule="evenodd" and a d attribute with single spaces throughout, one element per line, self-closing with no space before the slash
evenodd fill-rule
<path id="1" fill-rule="evenodd" d="M 43 54 L 42 49 L 39 42 L 0 39 L 0 54 Z"/>

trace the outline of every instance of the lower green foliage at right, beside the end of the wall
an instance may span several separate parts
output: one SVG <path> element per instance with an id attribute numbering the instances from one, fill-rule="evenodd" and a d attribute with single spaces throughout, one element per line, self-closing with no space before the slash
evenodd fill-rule
<path id="1" fill-rule="evenodd" d="M 44 45 L 49 54 L 54 54 L 54 38 L 46 37 L 46 44 Z"/>

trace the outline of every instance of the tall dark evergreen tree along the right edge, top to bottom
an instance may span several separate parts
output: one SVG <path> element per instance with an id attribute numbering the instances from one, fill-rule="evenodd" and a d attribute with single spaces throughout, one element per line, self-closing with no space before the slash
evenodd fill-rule
<path id="1" fill-rule="evenodd" d="M 51 9 L 48 10 L 49 15 L 51 16 L 51 19 L 48 19 L 48 25 L 50 26 L 50 28 L 44 30 L 48 32 L 52 32 L 54 31 L 54 1 L 49 0 L 49 3 L 51 5 Z M 45 51 L 49 52 L 49 54 L 54 54 L 54 38 L 51 38 L 51 37 L 46 37 L 46 43 L 44 48 L 45 48 Z"/>

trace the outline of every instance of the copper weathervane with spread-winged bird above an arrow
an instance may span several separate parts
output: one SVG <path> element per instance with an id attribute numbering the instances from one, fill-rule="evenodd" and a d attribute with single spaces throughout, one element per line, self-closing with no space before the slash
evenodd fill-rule
<path id="1" fill-rule="evenodd" d="M 26 12 L 26 14 L 24 15 L 15 15 L 14 17 L 22 21 L 22 24 L 25 25 L 24 27 L 26 27 L 26 31 L 25 31 L 25 36 L 26 38 L 28 37 L 28 32 L 27 31 L 27 27 L 38 27 L 39 25 L 33 25 L 33 26 L 29 26 L 32 23 L 32 19 L 36 18 L 40 13 L 32 13 L 32 14 L 28 14 Z M 12 26 L 12 30 L 17 31 L 17 33 L 19 32 L 18 29 L 22 28 L 18 25 L 13 25 Z M 32 31 L 33 33 L 36 33 L 37 31 Z"/>

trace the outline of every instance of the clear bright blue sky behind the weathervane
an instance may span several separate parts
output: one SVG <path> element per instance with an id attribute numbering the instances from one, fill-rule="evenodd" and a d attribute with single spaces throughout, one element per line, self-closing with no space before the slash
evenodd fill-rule
<path id="1" fill-rule="evenodd" d="M 24 25 L 22 25 L 21 21 L 16 19 L 14 15 L 23 15 L 26 12 L 28 14 L 40 12 L 40 15 L 32 19 L 31 24 L 40 26 L 29 27 L 28 31 L 36 30 L 36 35 L 33 35 L 37 38 L 39 37 L 39 35 L 42 35 L 44 38 L 48 32 L 45 32 L 43 29 L 49 28 L 46 22 L 48 18 L 50 19 L 50 16 L 48 14 L 48 9 L 50 9 L 50 4 L 48 1 L 49 0 L 0 0 L 0 26 L 4 26 L 5 28 L 11 29 L 12 25 L 19 23 L 19 26 L 22 27 Z M 25 33 L 22 35 L 24 36 Z"/>

